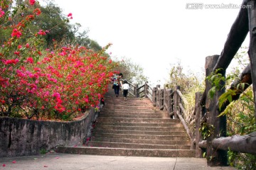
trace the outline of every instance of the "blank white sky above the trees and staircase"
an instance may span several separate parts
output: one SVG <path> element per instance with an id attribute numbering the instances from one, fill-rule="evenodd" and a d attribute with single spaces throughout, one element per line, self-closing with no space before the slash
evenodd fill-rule
<path id="1" fill-rule="evenodd" d="M 73 23 L 90 30 L 92 40 L 102 47 L 111 42 L 107 52 L 113 57 L 131 58 L 144 68 L 152 84 L 164 84 L 179 60 L 185 69 L 204 72 L 205 58 L 223 50 L 239 8 L 186 9 L 193 2 L 240 5 L 242 0 L 55 0 L 63 13 L 73 13 Z"/>

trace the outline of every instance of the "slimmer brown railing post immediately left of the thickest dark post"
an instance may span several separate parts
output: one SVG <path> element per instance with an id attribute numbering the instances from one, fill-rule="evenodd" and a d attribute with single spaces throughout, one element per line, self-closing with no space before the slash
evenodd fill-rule
<path id="1" fill-rule="evenodd" d="M 196 130 L 195 130 L 195 138 L 196 138 L 196 158 L 203 157 L 203 151 L 198 146 L 199 142 L 202 141 L 202 134 L 199 131 L 201 118 L 202 118 L 202 106 L 200 104 L 202 94 L 200 92 L 196 92 L 196 104 L 195 104 L 195 112 L 196 112 Z"/>

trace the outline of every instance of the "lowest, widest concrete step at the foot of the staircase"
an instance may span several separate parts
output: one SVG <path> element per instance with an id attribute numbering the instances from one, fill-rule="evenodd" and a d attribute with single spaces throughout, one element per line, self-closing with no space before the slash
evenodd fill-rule
<path id="1" fill-rule="evenodd" d="M 191 149 L 127 149 L 109 147 L 58 147 L 57 152 L 68 154 L 97 154 L 132 157 L 195 157 Z"/>

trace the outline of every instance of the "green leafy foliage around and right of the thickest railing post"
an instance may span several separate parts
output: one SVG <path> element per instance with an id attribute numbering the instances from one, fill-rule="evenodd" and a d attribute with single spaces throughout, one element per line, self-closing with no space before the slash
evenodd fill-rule
<path id="1" fill-rule="evenodd" d="M 247 50 L 247 47 L 242 47 L 240 52 L 235 55 L 235 60 L 231 63 L 231 65 L 235 67 L 230 69 L 227 78 L 218 73 L 220 70 L 217 70 L 217 72 L 207 77 L 208 81 L 213 85 L 213 88 L 209 91 L 210 96 L 213 96 L 216 90 L 223 88 L 221 84 L 223 81 L 226 83 L 225 87 L 227 90 L 219 97 L 218 104 L 219 108 L 221 108 L 225 101 L 230 103 L 228 107 L 225 108 L 225 111 L 219 115 L 227 115 L 228 136 L 248 135 L 250 132 L 256 131 L 255 104 L 252 86 L 249 86 L 249 88 L 244 91 L 245 83 L 241 83 L 235 88 L 229 89 L 231 82 L 239 79 L 238 76 L 240 72 L 249 63 L 245 50 Z M 242 94 L 240 94 L 241 92 Z M 240 98 L 237 101 L 233 101 L 233 96 L 237 94 L 240 94 Z M 252 154 L 228 151 L 228 160 L 230 166 L 235 166 L 237 169 L 256 169 L 256 156 Z"/>

